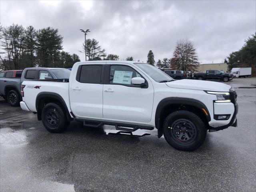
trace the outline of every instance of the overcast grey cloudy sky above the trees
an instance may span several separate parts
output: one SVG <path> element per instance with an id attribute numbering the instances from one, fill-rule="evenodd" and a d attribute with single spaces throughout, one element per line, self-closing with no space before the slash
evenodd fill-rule
<path id="1" fill-rule="evenodd" d="M 256 31 L 255 0 L 198 1 L 5 1 L 0 0 L 2 26 L 12 23 L 36 29 L 58 28 L 64 51 L 81 60 L 84 36 L 90 29 L 107 54 L 147 60 L 172 57 L 177 40 L 194 42 L 199 62 L 218 63 Z"/>

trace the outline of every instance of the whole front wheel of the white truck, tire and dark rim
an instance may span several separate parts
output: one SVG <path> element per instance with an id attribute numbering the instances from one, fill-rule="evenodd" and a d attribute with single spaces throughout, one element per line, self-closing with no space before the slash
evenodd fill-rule
<path id="1" fill-rule="evenodd" d="M 182 151 L 196 150 L 206 137 L 204 122 L 196 114 L 184 110 L 166 117 L 163 132 L 168 144 Z"/>

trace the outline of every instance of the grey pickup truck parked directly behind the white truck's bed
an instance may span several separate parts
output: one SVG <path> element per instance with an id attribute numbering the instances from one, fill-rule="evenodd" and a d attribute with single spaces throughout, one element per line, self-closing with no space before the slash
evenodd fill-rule
<path id="1" fill-rule="evenodd" d="M 14 78 L 15 75 L 15 78 Z M 21 84 L 24 80 L 69 78 L 70 70 L 63 68 L 25 68 L 0 72 L 0 95 L 11 106 L 18 106 L 22 100 Z"/>

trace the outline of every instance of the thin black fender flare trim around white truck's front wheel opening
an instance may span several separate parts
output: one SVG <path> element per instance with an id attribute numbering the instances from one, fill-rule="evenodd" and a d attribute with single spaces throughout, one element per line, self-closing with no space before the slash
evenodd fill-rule
<path id="1" fill-rule="evenodd" d="M 160 118 L 161 118 L 162 111 L 165 106 L 170 104 L 184 104 L 184 105 L 195 106 L 196 108 L 200 108 L 200 109 L 204 108 L 208 113 L 208 116 L 206 116 L 206 119 L 208 120 L 208 122 L 211 120 L 210 113 L 207 107 L 199 100 L 191 99 L 191 98 L 180 98 L 180 97 L 164 98 L 158 103 L 158 106 L 156 108 L 156 114 L 155 114 L 155 126 L 158 129 L 158 138 L 160 138 L 163 135 L 162 126 L 160 125 Z"/>

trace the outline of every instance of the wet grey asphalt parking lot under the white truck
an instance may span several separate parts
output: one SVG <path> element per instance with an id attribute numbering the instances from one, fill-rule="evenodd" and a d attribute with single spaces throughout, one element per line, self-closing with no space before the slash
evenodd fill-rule
<path id="1" fill-rule="evenodd" d="M 0 191 L 255 192 L 256 82 L 228 84 L 237 87 L 238 127 L 208 133 L 193 152 L 175 150 L 156 130 L 119 135 L 71 122 L 52 134 L 0 98 Z"/>

